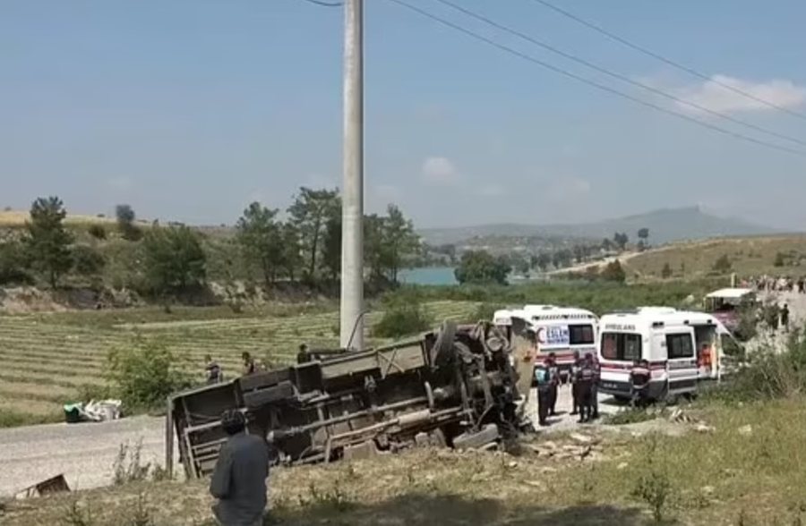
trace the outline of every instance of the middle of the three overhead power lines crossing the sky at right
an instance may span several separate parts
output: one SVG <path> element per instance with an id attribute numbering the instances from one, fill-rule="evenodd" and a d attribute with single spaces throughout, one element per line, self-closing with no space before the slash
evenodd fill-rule
<path id="1" fill-rule="evenodd" d="M 506 31 L 507 33 L 510 33 L 510 35 L 515 35 L 516 37 L 523 38 L 524 40 L 527 40 L 528 42 L 531 42 L 532 44 L 535 44 L 536 46 L 543 47 L 544 49 L 552 52 L 555 55 L 560 55 L 560 56 L 562 56 L 564 58 L 572 60 L 573 62 L 576 62 L 577 64 L 582 64 L 582 65 L 584 65 L 584 66 L 586 66 L 588 68 L 596 70 L 597 72 L 604 73 L 605 75 L 613 77 L 613 79 L 617 79 L 617 80 L 622 81 L 622 82 L 627 82 L 628 84 L 636 86 L 636 87 L 638 87 L 640 89 L 646 89 L 647 91 L 655 93 L 656 95 L 659 95 L 661 97 L 665 97 L 665 98 L 668 98 L 670 100 L 673 100 L 674 102 L 677 102 L 678 104 L 682 104 L 682 105 L 685 105 L 685 106 L 692 107 L 692 108 L 697 109 L 697 110 L 699 110 L 701 112 L 705 112 L 707 114 L 714 115 L 714 116 L 719 117 L 721 119 L 725 119 L 726 121 L 730 121 L 731 123 L 740 124 L 740 125 L 742 125 L 742 126 L 744 126 L 746 128 L 749 128 L 750 130 L 755 130 L 755 131 L 759 131 L 761 133 L 765 133 L 765 134 L 769 135 L 770 137 L 776 137 L 777 139 L 788 140 L 790 142 L 794 142 L 794 143 L 800 144 L 802 146 L 806 146 L 806 140 L 800 140 L 800 139 L 797 139 L 797 138 L 792 137 L 790 135 L 785 135 L 784 133 L 778 133 L 776 131 L 767 130 L 767 128 L 764 128 L 762 126 L 758 126 L 758 125 L 753 124 L 753 123 L 748 123 L 746 121 L 742 121 L 742 119 L 737 119 L 737 118 L 735 118 L 735 117 L 733 117 L 731 115 L 726 115 L 724 113 L 717 112 L 717 111 L 712 110 L 712 109 L 710 109 L 710 108 L 708 108 L 706 106 L 701 106 L 701 105 L 699 105 L 697 103 L 690 102 L 690 101 L 688 101 L 688 100 L 686 100 L 684 98 L 676 97 L 676 96 L 664 91 L 663 89 L 657 89 L 657 88 L 654 88 L 654 87 L 649 86 L 647 84 L 644 84 L 643 82 L 635 81 L 633 79 L 630 79 L 630 77 L 628 77 L 627 75 L 623 75 L 622 73 L 613 72 L 611 70 L 608 70 L 607 68 L 604 68 L 602 66 L 596 65 L 596 64 L 591 63 L 591 62 L 588 62 L 587 60 L 585 60 L 583 58 L 580 58 L 577 55 L 571 55 L 570 53 L 566 53 L 566 52 L 562 51 L 562 49 L 559 49 L 557 47 L 553 47 L 550 44 L 546 44 L 545 42 L 542 42 L 542 41 L 540 41 L 540 40 L 538 40 L 536 38 L 530 37 L 529 35 L 527 35 L 525 33 L 522 33 L 519 30 L 513 30 L 510 27 L 504 26 L 504 25 L 502 25 L 502 24 L 500 24 L 500 23 L 498 23 L 496 21 L 493 21 L 492 19 L 487 18 L 482 14 L 475 13 L 475 12 L 465 8 L 465 7 L 462 7 L 461 5 L 454 4 L 453 2 L 450 2 L 450 0 L 436 0 L 436 2 L 440 2 L 441 4 L 448 5 L 450 8 L 455 9 L 455 10 L 459 11 L 460 13 L 465 13 L 465 14 L 467 14 L 467 16 L 473 17 L 478 21 L 483 21 L 484 23 L 486 23 L 488 25 L 491 25 L 494 28 L 497 28 L 497 29 L 502 30 L 502 31 Z M 806 152 L 804 152 L 804 153 L 806 153 Z"/>

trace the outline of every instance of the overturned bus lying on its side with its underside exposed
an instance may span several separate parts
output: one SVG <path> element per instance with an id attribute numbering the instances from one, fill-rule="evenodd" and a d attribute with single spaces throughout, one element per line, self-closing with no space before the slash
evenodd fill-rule
<path id="1" fill-rule="evenodd" d="M 295 365 L 203 386 L 168 400 L 166 466 L 174 440 L 188 478 L 210 474 L 227 437 L 219 417 L 244 412 L 273 462 L 301 464 L 412 445 L 493 448 L 528 425 L 531 363 L 488 323 L 450 322 L 366 351 L 304 352 Z M 518 369 L 523 369 L 519 371 Z M 520 388 L 519 388 L 520 386 Z"/>

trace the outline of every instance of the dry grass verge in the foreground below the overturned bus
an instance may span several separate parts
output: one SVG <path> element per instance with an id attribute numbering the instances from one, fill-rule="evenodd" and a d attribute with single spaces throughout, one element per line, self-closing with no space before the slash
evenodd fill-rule
<path id="1" fill-rule="evenodd" d="M 666 523 L 801 524 L 806 519 L 806 406 L 802 400 L 709 406 L 713 433 L 605 439 L 596 462 L 535 454 L 416 451 L 371 461 L 273 471 L 281 524 L 639 525 L 653 523 L 632 496 L 653 472 L 668 483 Z M 740 428 L 750 425 L 739 432 Z M 651 458 L 650 462 L 648 459 Z M 120 523 L 144 492 L 155 524 L 212 524 L 203 483 L 132 485 L 13 503 L 4 524 L 56 524 L 76 499 L 97 524 Z"/>

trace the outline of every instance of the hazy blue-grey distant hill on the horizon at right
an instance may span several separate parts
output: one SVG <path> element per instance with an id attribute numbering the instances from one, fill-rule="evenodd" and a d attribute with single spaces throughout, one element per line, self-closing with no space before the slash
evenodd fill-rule
<path id="1" fill-rule="evenodd" d="M 630 241 L 637 238 L 640 228 L 649 229 L 649 242 L 700 240 L 733 235 L 762 235 L 777 233 L 774 228 L 754 225 L 737 218 L 712 216 L 699 207 L 664 208 L 647 214 L 605 219 L 598 223 L 578 225 L 519 225 L 498 224 L 458 228 L 424 228 L 419 231 L 425 242 L 432 245 L 464 242 L 474 237 L 563 237 L 604 239 L 624 232 Z"/>

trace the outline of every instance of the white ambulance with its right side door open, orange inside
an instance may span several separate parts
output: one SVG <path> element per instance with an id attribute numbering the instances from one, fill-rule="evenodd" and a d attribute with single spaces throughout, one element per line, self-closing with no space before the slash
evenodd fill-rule
<path id="1" fill-rule="evenodd" d="M 730 331 L 704 312 L 642 307 L 604 315 L 599 323 L 599 391 L 630 398 L 630 371 L 646 360 L 652 378 L 649 398 L 664 400 L 697 392 L 702 380 L 718 379 Z"/>

